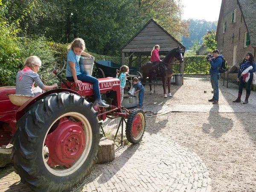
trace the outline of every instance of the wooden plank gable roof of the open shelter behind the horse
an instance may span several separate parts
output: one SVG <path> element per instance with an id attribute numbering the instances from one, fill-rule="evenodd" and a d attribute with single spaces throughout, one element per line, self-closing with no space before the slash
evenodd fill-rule
<path id="1" fill-rule="evenodd" d="M 154 19 L 150 19 L 134 37 L 122 47 L 122 64 L 128 57 L 131 64 L 132 56 L 136 55 L 140 62 L 142 55 L 149 56 L 154 45 L 160 45 L 159 55 L 166 55 L 170 50 L 181 47 L 186 49 L 169 32 L 160 26 Z"/>

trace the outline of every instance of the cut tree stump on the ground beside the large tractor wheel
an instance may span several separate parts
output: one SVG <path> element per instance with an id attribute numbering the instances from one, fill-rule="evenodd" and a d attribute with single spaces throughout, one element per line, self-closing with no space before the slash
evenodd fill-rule
<path id="1" fill-rule="evenodd" d="M 99 141 L 101 148 L 97 154 L 97 164 L 104 164 L 111 162 L 115 159 L 115 144 L 113 140 L 109 140 L 106 137 L 102 137 Z"/>

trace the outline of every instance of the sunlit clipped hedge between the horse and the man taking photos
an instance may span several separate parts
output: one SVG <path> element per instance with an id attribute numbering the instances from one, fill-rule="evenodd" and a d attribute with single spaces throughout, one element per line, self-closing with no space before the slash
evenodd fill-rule
<path id="1" fill-rule="evenodd" d="M 179 73 L 179 65 L 173 66 L 174 73 Z M 210 63 L 206 60 L 205 55 L 186 56 L 184 57 L 184 74 L 206 75 L 209 74 Z"/>

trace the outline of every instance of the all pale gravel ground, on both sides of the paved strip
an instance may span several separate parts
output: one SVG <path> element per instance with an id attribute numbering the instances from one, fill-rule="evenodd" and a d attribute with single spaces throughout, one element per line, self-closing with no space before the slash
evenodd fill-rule
<path id="1" fill-rule="evenodd" d="M 233 103 L 236 98 L 222 82 L 220 106 L 251 108 Z M 152 112 L 146 113 L 150 125 L 146 131 L 171 137 L 197 153 L 210 171 L 212 191 L 256 190 L 256 110 L 252 113 L 168 112 L 175 105 L 212 105 L 207 101 L 212 98 L 209 76 L 187 77 L 183 86 L 172 85 L 172 99 L 163 98 L 160 85 L 154 94 L 149 94 L 148 86 L 145 90 L 143 110 Z"/>

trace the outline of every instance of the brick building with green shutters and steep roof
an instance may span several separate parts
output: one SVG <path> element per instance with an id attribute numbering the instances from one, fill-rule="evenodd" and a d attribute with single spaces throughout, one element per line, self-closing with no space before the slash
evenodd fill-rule
<path id="1" fill-rule="evenodd" d="M 256 0 L 222 0 L 216 40 L 230 66 L 244 55 L 256 56 Z"/>

